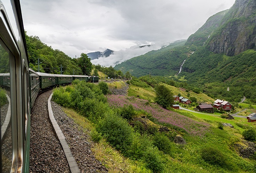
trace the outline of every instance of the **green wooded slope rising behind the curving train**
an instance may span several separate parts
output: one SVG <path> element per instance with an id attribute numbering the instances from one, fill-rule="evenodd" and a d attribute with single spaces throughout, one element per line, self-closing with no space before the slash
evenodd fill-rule
<path id="1" fill-rule="evenodd" d="M 71 58 L 58 49 L 52 49 L 42 43 L 38 36 L 28 36 L 26 34 L 26 44 L 28 52 L 28 60 L 30 68 L 36 72 L 52 73 L 52 74 L 69 74 L 69 75 L 99 75 L 98 71 L 106 73 L 110 78 L 124 78 L 120 70 L 115 70 L 112 66 L 105 67 L 101 65 L 93 65 L 91 59 L 85 53 L 81 53 L 80 57 Z M 3 51 L 2 51 L 3 50 Z M 8 59 L 8 54 L 4 49 L 0 49 L 1 58 Z M 9 59 L 8 59 L 9 60 Z M 1 66 L 6 66 L 7 61 L 0 61 Z M 5 63 L 5 64 L 4 64 Z M 39 65 L 38 65 L 39 64 Z M 61 71 L 62 70 L 62 71 Z M 130 73 L 127 76 L 130 76 Z"/>

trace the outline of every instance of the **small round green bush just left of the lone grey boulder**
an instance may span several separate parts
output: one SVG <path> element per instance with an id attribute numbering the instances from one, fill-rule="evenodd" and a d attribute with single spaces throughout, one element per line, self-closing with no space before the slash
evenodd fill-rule
<path id="1" fill-rule="evenodd" d="M 170 139 L 163 133 L 156 133 L 153 137 L 153 144 L 165 154 L 171 154 L 172 145 Z"/>

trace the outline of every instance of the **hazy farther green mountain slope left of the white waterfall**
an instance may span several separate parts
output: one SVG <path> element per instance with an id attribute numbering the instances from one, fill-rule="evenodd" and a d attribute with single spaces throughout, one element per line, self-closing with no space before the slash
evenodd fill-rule
<path id="1" fill-rule="evenodd" d="M 134 76 L 143 76 L 150 72 L 162 76 L 174 75 L 179 71 L 180 64 L 184 59 L 195 50 L 195 48 L 186 48 L 185 42 L 185 40 L 177 41 L 157 51 L 150 51 L 144 55 L 133 57 L 117 64 L 115 69 L 121 70 L 123 73 L 129 71 Z"/>

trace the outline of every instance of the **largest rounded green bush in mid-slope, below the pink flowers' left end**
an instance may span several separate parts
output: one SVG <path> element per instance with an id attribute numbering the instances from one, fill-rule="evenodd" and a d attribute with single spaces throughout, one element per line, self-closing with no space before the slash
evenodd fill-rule
<path id="1" fill-rule="evenodd" d="M 99 121 L 97 128 L 116 149 L 125 151 L 132 143 L 133 128 L 114 112 L 106 113 L 105 117 Z"/>

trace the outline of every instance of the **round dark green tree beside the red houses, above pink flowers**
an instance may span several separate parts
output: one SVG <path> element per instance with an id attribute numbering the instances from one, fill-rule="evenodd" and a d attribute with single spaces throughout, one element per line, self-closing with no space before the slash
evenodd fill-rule
<path id="1" fill-rule="evenodd" d="M 156 85 L 156 98 L 155 101 L 160 104 L 163 108 L 167 108 L 174 104 L 173 93 L 164 85 Z"/>

